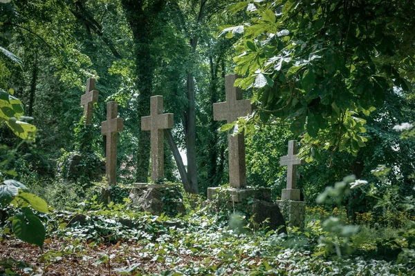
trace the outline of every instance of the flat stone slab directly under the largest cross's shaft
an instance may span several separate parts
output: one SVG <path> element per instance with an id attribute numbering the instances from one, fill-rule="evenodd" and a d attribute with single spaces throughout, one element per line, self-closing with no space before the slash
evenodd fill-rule
<path id="1" fill-rule="evenodd" d="M 215 195 L 219 193 L 221 187 L 210 187 L 208 188 L 208 199 L 212 200 Z M 241 202 L 243 199 L 252 197 L 254 199 L 261 199 L 264 201 L 272 201 L 271 189 L 266 187 L 261 188 L 228 188 L 227 193 L 230 193 L 230 201 Z"/>

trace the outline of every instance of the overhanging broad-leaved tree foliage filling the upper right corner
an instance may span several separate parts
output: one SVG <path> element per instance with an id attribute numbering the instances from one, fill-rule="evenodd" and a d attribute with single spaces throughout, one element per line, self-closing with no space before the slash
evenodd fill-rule
<path id="1" fill-rule="evenodd" d="M 236 85 L 252 88 L 257 112 L 249 123 L 282 121 L 302 137 L 302 155 L 322 148 L 356 155 L 366 120 L 387 91 L 411 91 L 415 56 L 411 1 L 243 1 L 250 22 L 224 28 L 240 37 Z M 248 123 L 248 125 L 247 125 Z M 240 126 L 240 131 L 243 129 Z"/>

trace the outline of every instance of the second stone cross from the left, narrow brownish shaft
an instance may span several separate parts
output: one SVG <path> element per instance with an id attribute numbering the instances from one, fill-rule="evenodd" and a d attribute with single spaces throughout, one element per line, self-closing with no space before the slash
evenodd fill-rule
<path id="1" fill-rule="evenodd" d="M 118 118 L 118 107 L 116 101 L 107 103 L 107 121 L 101 124 L 101 134 L 107 135 L 107 164 L 105 174 L 109 184 L 117 183 L 117 132 L 124 129 L 124 119 Z"/>

